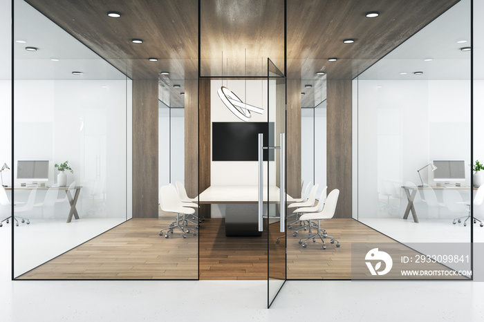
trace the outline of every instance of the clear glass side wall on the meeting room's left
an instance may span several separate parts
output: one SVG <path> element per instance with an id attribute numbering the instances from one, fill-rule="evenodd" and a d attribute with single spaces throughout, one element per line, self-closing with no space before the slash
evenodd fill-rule
<path id="1" fill-rule="evenodd" d="M 99 246 L 50 260 L 131 218 L 131 79 L 24 1 L 14 14 L 13 276 L 113 278 L 106 263 L 90 270 L 109 257 Z M 39 175 L 22 160 L 48 166 Z"/>

